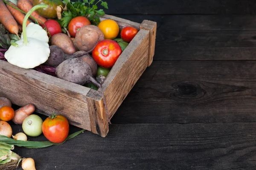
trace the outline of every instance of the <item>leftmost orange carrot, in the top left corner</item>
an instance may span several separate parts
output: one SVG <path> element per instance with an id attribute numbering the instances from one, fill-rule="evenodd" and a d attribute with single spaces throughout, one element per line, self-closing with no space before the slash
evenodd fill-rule
<path id="1" fill-rule="evenodd" d="M 19 27 L 3 0 L 0 0 L 0 23 L 12 34 L 18 35 Z"/>

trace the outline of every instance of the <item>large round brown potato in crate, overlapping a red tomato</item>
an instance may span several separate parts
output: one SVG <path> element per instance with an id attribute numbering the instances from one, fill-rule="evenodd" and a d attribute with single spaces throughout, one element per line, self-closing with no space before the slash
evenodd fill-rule
<path id="1" fill-rule="evenodd" d="M 90 51 L 96 46 L 96 42 L 104 40 L 104 34 L 99 27 L 87 25 L 80 28 L 76 33 L 75 44 L 80 51 Z"/>

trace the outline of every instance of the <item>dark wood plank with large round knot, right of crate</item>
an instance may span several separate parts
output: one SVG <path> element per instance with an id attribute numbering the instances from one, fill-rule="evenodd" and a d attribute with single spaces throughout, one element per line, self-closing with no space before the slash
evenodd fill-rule
<path id="1" fill-rule="evenodd" d="M 255 70 L 255 61 L 154 61 L 111 122 L 256 122 Z"/>

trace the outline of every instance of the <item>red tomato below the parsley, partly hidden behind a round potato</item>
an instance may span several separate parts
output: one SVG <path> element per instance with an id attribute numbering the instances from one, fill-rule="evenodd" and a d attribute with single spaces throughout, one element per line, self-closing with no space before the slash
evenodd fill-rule
<path id="1" fill-rule="evenodd" d="M 84 16 L 78 16 L 74 17 L 72 20 L 70 20 L 70 23 L 68 24 L 68 31 L 70 33 L 71 37 L 76 37 L 76 32 L 83 26 L 90 25 L 90 21 L 87 19 L 87 17 Z"/>

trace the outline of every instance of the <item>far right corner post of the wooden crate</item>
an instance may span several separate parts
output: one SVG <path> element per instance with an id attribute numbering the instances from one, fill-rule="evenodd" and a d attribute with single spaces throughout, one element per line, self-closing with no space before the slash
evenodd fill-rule
<path id="1" fill-rule="evenodd" d="M 140 29 L 145 29 L 149 31 L 149 47 L 148 47 L 148 66 L 153 62 L 156 35 L 157 35 L 157 23 L 154 21 L 144 20 L 140 24 Z"/>

